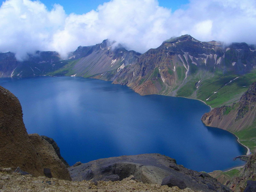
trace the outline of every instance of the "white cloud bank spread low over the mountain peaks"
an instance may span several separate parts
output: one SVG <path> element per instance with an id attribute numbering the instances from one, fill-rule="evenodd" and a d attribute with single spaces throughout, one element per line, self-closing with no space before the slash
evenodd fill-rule
<path id="1" fill-rule="evenodd" d="M 67 15 L 59 4 L 49 11 L 30 0 L 7 0 L 0 8 L 0 52 L 15 52 L 20 60 L 36 50 L 65 57 L 79 45 L 107 38 L 142 53 L 184 34 L 200 41 L 256 44 L 255 31 L 255 0 L 191 0 L 175 12 L 157 0 L 111 0 L 82 15 Z"/>

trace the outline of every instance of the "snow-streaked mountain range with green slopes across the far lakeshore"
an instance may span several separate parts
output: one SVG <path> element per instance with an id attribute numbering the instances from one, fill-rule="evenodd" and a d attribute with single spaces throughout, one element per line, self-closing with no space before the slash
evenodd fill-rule
<path id="1" fill-rule="evenodd" d="M 79 46 L 69 53 L 67 60 L 61 60 L 57 52 L 51 51 L 28 54 L 28 59 L 24 61 L 17 61 L 14 53 L 0 53 L 0 77 L 44 75 L 96 78 L 127 85 L 141 95 L 162 94 L 199 99 L 212 108 L 225 105 L 227 109 L 224 113 L 234 108 L 237 111 L 241 109 L 236 103 L 256 81 L 255 67 L 254 45 L 200 42 L 189 35 L 168 39 L 158 48 L 143 54 L 128 51 L 121 44 L 109 40 L 93 46 Z M 246 114 L 250 114 L 250 119 L 254 121 L 256 115 L 253 111 L 248 109 Z M 236 118 L 240 117 L 244 118 Z M 227 125 L 226 121 L 222 121 L 220 125 L 216 123 L 219 122 L 217 118 L 211 118 L 215 119 L 215 123 L 206 120 L 204 123 L 224 129 L 229 127 L 228 130 L 234 133 L 253 124 L 250 120 L 240 129 L 237 123 Z M 251 146 L 255 143 L 253 141 Z"/>

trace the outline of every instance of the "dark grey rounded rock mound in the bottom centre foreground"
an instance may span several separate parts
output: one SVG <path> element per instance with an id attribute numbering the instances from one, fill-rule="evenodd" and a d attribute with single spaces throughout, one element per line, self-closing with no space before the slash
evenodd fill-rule
<path id="1" fill-rule="evenodd" d="M 71 166 L 68 170 L 74 181 L 106 180 L 106 178 L 123 180 L 133 176 L 134 179 L 144 183 L 159 185 L 168 183 L 166 185 L 179 185 L 181 188 L 188 187 L 204 192 L 228 191 L 207 173 L 189 170 L 177 165 L 175 159 L 160 154 L 109 157 Z"/>

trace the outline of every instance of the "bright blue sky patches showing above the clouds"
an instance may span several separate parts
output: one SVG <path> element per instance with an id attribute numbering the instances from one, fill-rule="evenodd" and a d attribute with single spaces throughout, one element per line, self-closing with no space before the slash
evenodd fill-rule
<path id="1" fill-rule="evenodd" d="M 1 1 L 1 3 L 4 1 Z M 60 4 L 63 6 L 67 14 L 76 13 L 83 14 L 91 11 L 92 9 L 96 10 L 98 5 L 109 0 L 41 0 L 43 4 L 47 6 L 48 9 L 52 9 L 53 4 Z M 188 0 L 158 0 L 159 5 L 172 8 L 172 11 L 175 11 L 179 8 L 185 8 L 185 5 L 189 3 Z"/>

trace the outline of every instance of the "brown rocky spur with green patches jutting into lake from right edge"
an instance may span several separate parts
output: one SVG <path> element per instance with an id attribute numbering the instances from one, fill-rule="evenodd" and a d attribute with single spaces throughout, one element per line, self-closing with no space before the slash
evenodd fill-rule
<path id="1" fill-rule="evenodd" d="M 242 95 L 238 103 L 214 108 L 205 113 L 202 121 L 207 126 L 219 127 L 230 132 L 241 131 L 252 125 L 256 118 L 256 82 Z"/>

